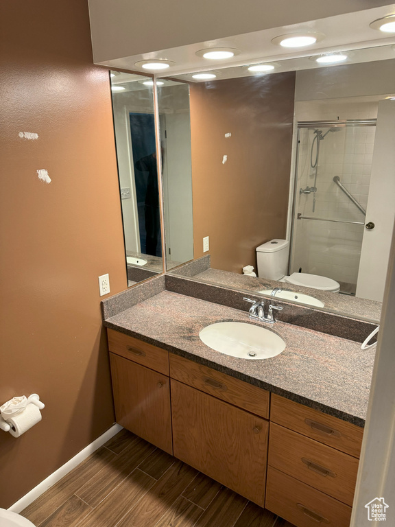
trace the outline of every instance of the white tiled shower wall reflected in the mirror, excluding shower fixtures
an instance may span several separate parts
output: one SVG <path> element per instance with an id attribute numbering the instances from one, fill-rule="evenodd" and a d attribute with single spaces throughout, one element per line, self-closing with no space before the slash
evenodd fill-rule
<path id="1" fill-rule="evenodd" d="M 374 119 L 377 103 L 297 102 L 297 121 L 337 121 Z M 325 133 L 328 128 L 322 128 Z M 313 212 L 313 194 L 298 195 L 296 213 L 317 218 L 363 222 L 364 215 L 333 182 L 339 176 L 342 184 L 366 208 L 372 167 L 375 127 L 346 127 L 329 132 L 320 141 L 317 192 Z M 302 129 L 298 156 L 298 187 L 314 185 L 315 169 L 311 167 L 313 130 Z M 314 149 L 315 150 L 315 149 Z M 313 152 L 313 161 L 315 152 Z M 337 281 L 357 283 L 363 225 L 295 220 L 291 272 L 322 274 Z"/>

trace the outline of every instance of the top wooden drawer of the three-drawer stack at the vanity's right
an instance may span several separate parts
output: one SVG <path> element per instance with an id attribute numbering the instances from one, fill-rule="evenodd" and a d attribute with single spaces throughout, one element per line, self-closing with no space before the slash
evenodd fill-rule
<path id="1" fill-rule="evenodd" d="M 272 395 L 270 421 L 359 458 L 363 428 Z"/>

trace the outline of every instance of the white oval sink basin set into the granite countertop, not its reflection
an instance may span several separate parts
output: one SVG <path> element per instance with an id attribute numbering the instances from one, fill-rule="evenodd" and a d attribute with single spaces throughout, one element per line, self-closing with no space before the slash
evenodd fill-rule
<path id="1" fill-rule="evenodd" d="M 268 359 L 285 350 L 285 342 L 270 329 L 244 322 L 219 322 L 199 333 L 206 346 L 240 359 Z"/>

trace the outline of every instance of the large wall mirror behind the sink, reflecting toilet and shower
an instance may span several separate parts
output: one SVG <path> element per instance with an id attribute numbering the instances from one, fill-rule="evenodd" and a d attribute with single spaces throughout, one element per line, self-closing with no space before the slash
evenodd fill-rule
<path id="1" fill-rule="evenodd" d="M 354 50 L 342 65 L 267 65 L 158 87 L 159 107 L 182 115 L 164 156 L 179 174 L 165 215 L 184 207 L 169 231 L 185 246 L 167 251 L 167 270 L 379 320 L 395 216 L 394 47 Z M 174 268 L 205 255 L 195 274 Z"/>

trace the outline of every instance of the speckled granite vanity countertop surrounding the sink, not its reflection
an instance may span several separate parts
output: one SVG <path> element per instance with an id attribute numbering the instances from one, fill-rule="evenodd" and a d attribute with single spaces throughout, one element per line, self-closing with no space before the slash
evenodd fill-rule
<path id="1" fill-rule="evenodd" d="M 276 322 L 272 329 L 287 347 L 276 357 L 246 360 L 207 347 L 199 332 L 235 320 L 267 327 L 247 312 L 163 291 L 106 318 L 104 325 L 171 353 L 200 362 L 339 419 L 363 426 L 368 408 L 374 349 L 325 333 Z"/>

